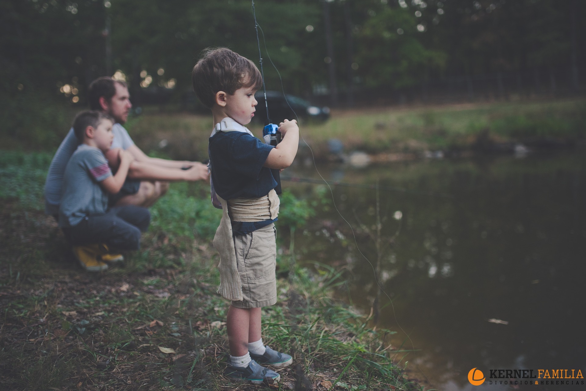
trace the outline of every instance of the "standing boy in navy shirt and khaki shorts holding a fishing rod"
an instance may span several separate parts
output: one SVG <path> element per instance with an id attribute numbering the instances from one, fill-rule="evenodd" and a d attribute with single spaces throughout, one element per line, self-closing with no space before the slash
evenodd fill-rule
<path id="1" fill-rule="evenodd" d="M 254 93 L 262 86 L 253 62 L 225 47 L 207 50 L 192 72 L 193 89 L 212 110 L 209 139 L 211 181 L 223 216 L 213 244 L 220 253 L 218 293 L 230 300 L 227 333 L 230 365 L 225 375 L 262 383 L 280 375 L 261 365 L 283 368 L 291 356 L 264 346 L 261 307 L 277 302 L 274 222 L 279 198 L 272 169 L 287 168 L 297 154 L 299 128 L 285 120 L 276 147 L 263 144 L 244 125 L 254 117 Z"/>

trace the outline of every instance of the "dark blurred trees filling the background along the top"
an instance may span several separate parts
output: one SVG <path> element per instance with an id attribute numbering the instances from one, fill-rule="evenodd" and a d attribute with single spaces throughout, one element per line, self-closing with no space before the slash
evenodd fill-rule
<path id="1" fill-rule="evenodd" d="M 580 93 L 582 3 L 257 0 L 256 11 L 287 93 L 346 107 Z M 98 76 L 127 80 L 135 107 L 193 111 L 202 49 L 258 62 L 249 0 L 2 0 L 0 29 L 5 148 L 59 144 Z"/>

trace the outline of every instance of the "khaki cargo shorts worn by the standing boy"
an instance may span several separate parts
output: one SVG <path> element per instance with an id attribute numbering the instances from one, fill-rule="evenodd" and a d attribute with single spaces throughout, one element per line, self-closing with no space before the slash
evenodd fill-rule
<path id="1" fill-rule="evenodd" d="M 277 243 L 275 225 L 271 223 L 246 235 L 234 236 L 236 265 L 242 283 L 242 301 L 232 301 L 238 308 L 257 308 L 277 302 Z"/>

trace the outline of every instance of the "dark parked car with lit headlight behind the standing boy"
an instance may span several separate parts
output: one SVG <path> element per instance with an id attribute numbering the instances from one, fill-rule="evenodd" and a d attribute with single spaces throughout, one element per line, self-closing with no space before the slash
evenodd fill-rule
<path id="1" fill-rule="evenodd" d="M 254 119 L 261 123 L 267 123 L 267 110 L 264 104 L 263 91 L 261 90 L 254 94 L 254 98 L 258 101 Z M 305 99 L 289 94 L 287 94 L 287 100 L 285 100 L 285 96 L 278 91 L 267 91 L 267 102 L 268 113 L 271 115 L 271 121 L 274 124 L 281 123 L 283 120 L 294 120 L 295 113 L 299 118 L 305 120 L 325 121 L 329 118 L 329 107 L 312 106 Z M 289 106 L 291 107 L 289 108 Z"/>

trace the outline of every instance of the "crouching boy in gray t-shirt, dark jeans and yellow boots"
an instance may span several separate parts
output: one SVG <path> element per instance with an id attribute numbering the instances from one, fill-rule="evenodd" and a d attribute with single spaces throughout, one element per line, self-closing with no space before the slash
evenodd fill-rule
<path id="1" fill-rule="evenodd" d="M 111 250 L 137 250 L 141 231 L 147 230 L 151 220 L 148 209 L 138 206 L 108 209 L 108 193 L 120 191 L 132 161 L 132 155 L 120 149 L 118 171 L 115 175 L 110 171 L 104 152 L 114 139 L 113 124 L 112 118 L 101 111 L 77 114 L 73 131 L 81 144 L 67 162 L 63 176 L 59 226 L 88 271 L 107 268 L 104 260 Z M 111 256 L 109 259 L 114 260 Z"/>

